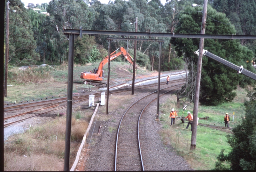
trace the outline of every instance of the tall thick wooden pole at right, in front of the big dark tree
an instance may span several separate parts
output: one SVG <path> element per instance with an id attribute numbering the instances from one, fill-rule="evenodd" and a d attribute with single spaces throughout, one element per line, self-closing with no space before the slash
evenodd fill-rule
<path id="1" fill-rule="evenodd" d="M 205 34 L 207 3 L 208 3 L 208 0 L 204 0 L 201 34 Z M 201 80 L 201 72 L 202 72 L 203 49 L 204 49 L 204 38 L 200 38 L 190 150 L 194 150 L 196 148 L 196 142 L 197 142 L 197 116 L 198 116 L 200 80 Z"/>

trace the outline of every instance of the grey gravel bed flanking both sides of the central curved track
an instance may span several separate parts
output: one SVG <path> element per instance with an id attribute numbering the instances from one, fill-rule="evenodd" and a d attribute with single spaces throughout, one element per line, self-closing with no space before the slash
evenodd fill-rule
<path id="1" fill-rule="evenodd" d="M 135 102 L 145 95 L 145 93 L 142 92 L 136 92 L 135 94 L 137 95 L 133 98 L 132 102 Z M 161 102 L 159 103 L 165 102 L 167 97 L 168 95 L 164 98 L 161 97 Z M 91 138 L 94 140 L 94 143 L 87 147 L 89 148 L 89 152 L 86 154 L 86 160 L 84 162 L 85 168 L 81 170 L 114 170 L 117 128 L 123 113 L 130 104 L 124 104 L 123 106 L 125 108 L 123 109 L 120 108 L 109 112 L 108 115 L 111 118 L 107 121 L 101 121 L 100 116 L 97 118 L 96 123 L 102 123 L 103 129 L 101 129 L 100 134 L 97 134 L 98 128 L 96 127 L 96 130 L 94 130 L 93 133 L 91 132 L 88 136 L 87 144 L 90 143 Z M 141 146 L 145 170 L 192 170 L 190 165 L 181 156 L 178 156 L 170 145 L 163 144 L 159 135 L 162 124 L 161 121 L 155 121 L 155 118 L 156 101 L 146 109 L 141 121 L 141 123 L 145 124 L 143 131 L 141 131 L 142 135 L 140 135 L 140 138 L 142 137 L 143 140 Z M 110 131 L 109 128 L 115 128 L 116 130 Z"/>

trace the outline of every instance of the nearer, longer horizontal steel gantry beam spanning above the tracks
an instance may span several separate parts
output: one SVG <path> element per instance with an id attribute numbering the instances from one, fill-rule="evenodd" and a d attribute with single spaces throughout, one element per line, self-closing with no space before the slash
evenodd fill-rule
<path id="1" fill-rule="evenodd" d="M 211 35 L 211 34 L 183 34 L 183 33 L 152 33 L 152 32 L 119 32 L 82 29 L 65 29 L 64 34 L 92 34 L 119 36 L 147 36 L 169 38 L 205 38 L 205 39 L 256 39 L 256 35 Z"/>

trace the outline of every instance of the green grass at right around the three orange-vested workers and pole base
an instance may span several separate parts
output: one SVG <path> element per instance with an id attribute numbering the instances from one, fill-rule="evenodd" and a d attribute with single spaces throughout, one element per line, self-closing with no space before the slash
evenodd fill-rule
<path id="1" fill-rule="evenodd" d="M 224 116 L 228 112 L 231 120 L 229 127 L 235 127 L 239 124 L 244 117 L 243 102 L 247 97 L 245 89 L 239 88 L 236 91 L 239 92 L 239 99 L 243 101 L 239 102 L 235 100 L 234 102 L 224 103 L 218 106 L 199 105 L 198 117 L 209 116 L 208 120 L 199 120 L 199 123 L 225 126 Z M 221 149 L 225 149 L 226 154 L 231 150 L 226 138 L 228 133 L 198 125 L 196 150 L 190 151 L 190 126 L 189 129 L 185 129 L 187 123 L 183 126 L 182 122 L 177 119 L 175 120 L 175 125 L 170 126 L 169 113 L 172 108 L 176 107 L 175 101 L 176 97 L 172 95 L 167 102 L 164 102 L 164 105 L 162 105 L 163 102 L 160 102 L 161 106 L 159 106 L 159 109 L 162 114 L 159 117 L 163 124 L 160 134 L 164 144 L 174 147 L 176 152 L 188 161 L 191 168 L 195 170 L 213 169 L 217 161 L 216 157 L 220 154 Z M 178 111 L 178 116 L 182 116 L 182 108 L 175 108 L 175 110 Z M 193 113 L 193 104 L 188 105 L 186 111 L 184 111 L 184 117 L 187 116 L 188 111 Z M 234 122 L 232 122 L 233 112 L 235 113 Z"/>

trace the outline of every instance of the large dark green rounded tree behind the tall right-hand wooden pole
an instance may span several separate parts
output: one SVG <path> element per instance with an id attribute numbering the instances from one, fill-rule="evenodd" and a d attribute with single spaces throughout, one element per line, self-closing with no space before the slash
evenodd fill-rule
<path id="1" fill-rule="evenodd" d="M 180 22 L 175 32 L 179 33 L 200 33 L 202 14 L 198 11 L 201 7 L 187 7 L 180 14 Z M 190 11 L 190 13 L 188 13 Z M 192 11 L 192 12 L 191 12 Z M 207 16 L 213 18 L 206 21 L 206 34 L 235 34 L 235 28 L 229 23 L 229 19 L 225 15 L 208 6 Z M 218 20 L 219 22 L 216 22 Z M 179 56 L 183 53 L 187 57 L 197 61 L 194 51 L 198 50 L 199 39 L 177 38 L 172 39 L 176 46 L 175 50 Z M 223 39 L 205 39 L 204 49 L 230 61 L 238 66 L 243 65 L 244 68 L 253 71 L 251 64 L 246 63 L 253 57 L 253 53 L 246 47 L 240 45 L 238 40 Z M 189 68 L 190 70 L 190 68 Z M 237 88 L 239 83 L 243 86 L 248 83 L 248 79 L 243 75 L 237 75 L 232 69 L 206 57 L 202 61 L 202 75 L 199 101 L 203 104 L 221 104 L 223 102 L 232 101 L 236 96 L 232 92 Z"/>

